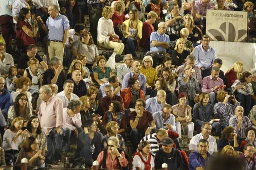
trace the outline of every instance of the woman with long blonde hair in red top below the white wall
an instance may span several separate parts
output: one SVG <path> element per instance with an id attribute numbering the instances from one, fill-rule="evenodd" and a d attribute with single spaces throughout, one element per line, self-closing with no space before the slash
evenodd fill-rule
<path id="1" fill-rule="evenodd" d="M 231 88 L 232 84 L 238 79 L 244 70 L 244 64 L 241 61 L 236 61 L 233 67 L 225 73 L 225 84 L 227 88 Z"/>

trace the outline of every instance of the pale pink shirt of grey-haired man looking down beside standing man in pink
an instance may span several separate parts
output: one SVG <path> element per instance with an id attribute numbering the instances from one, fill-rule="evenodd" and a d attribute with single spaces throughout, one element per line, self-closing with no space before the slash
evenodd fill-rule
<path id="1" fill-rule="evenodd" d="M 63 128 L 69 128 L 72 131 L 75 128 L 79 128 L 82 126 L 81 115 L 80 113 L 75 114 L 74 117 L 69 116 L 67 113 L 68 108 L 63 109 Z"/>

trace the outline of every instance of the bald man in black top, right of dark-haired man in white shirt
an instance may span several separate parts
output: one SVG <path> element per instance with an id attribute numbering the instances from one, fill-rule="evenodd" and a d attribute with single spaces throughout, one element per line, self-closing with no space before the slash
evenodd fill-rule
<path id="1" fill-rule="evenodd" d="M 78 97 L 82 97 L 86 95 L 87 88 L 86 83 L 82 80 L 82 74 L 79 70 L 75 70 L 72 72 L 72 78 L 74 82 L 74 91 L 73 93 L 78 95 Z"/>

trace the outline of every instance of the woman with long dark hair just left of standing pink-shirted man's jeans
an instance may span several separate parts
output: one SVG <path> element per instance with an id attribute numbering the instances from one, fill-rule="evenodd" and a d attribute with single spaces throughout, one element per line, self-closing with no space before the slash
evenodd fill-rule
<path id="1" fill-rule="evenodd" d="M 38 140 L 38 150 L 41 150 L 41 155 L 47 151 L 46 135 L 41 129 L 40 121 L 37 116 L 32 116 L 28 120 L 27 137 L 35 137 Z"/>

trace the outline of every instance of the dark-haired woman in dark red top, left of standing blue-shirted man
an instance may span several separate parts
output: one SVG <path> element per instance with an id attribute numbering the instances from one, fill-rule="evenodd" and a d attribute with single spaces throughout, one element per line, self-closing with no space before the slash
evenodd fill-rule
<path id="1" fill-rule="evenodd" d="M 36 44 L 35 37 L 37 35 L 37 30 L 33 30 L 32 26 L 28 22 L 28 19 L 31 18 L 30 9 L 22 8 L 18 15 L 17 22 L 17 47 L 22 49 L 23 53 L 27 52 L 27 46 L 30 44 Z"/>

